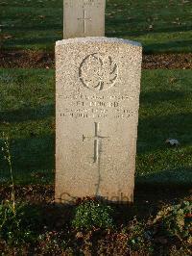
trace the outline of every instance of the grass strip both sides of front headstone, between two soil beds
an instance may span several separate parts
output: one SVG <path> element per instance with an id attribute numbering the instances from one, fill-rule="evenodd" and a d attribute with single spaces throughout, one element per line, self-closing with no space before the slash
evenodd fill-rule
<path id="1" fill-rule="evenodd" d="M 145 70 L 142 74 L 136 160 L 137 184 L 190 186 L 192 180 L 191 70 Z M 17 184 L 53 184 L 55 72 L 0 69 L 0 147 L 11 140 Z M 169 147 L 166 139 L 180 141 Z M 9 182 L 0 152 L 0 183 Z"/>

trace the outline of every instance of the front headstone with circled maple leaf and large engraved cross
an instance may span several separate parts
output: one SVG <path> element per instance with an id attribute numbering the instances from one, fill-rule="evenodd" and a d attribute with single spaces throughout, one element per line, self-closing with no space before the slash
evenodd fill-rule
<path id="1" fill-rule="evenodd" d="M 119 38 L 56 45 L 56 202 L 132 202 L 142 48 Z"/>

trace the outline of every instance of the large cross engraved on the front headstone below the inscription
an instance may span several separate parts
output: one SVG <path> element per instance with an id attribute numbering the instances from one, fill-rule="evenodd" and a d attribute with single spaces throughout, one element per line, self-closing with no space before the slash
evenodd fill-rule
<path id="1" fill-rule="evenodd" d="M 103 137 L 99 135 L 99 123 L 95 122 L 95 135 L 94 137 L 85 137 L 83 135 L 83 141 L 85 141 L 86 139 L 91 140 L 94 139 L 94 163 L 98 163 L 99 160 L 99 155 L 100 155 L 100 150 L 99 150 L 99 145 L 100 145 L 100 141 L 103 139 L 108 139 L 109 137 Z"/>

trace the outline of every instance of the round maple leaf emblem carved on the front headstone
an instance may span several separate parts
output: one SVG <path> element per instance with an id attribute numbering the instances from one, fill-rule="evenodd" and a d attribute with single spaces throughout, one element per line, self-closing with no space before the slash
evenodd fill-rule
<path id="1" fill-rule="evenodd" d="M 80 80 L 89 90 L 108 90 L 118 77 L 118 66 L 110 56 L 93 53 L 86 56 L 79 68 Z"/>

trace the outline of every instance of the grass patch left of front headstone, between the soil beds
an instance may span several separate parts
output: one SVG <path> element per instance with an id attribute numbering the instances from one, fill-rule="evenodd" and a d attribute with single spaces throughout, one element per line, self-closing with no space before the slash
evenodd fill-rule
<path id="1" fill-rule="evenodd" d="M 53 70 L 1 70 L 0 133 L 12 141 L 14 178 L 24 184 L 53 181 L 54 83 Z M 4 181 L 2 154 L 0 162 Z"/>

